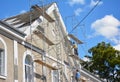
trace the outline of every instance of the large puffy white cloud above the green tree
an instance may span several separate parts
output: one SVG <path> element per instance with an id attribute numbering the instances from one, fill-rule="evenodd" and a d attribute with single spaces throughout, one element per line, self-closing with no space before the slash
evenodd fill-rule
<path id="1" fill-rule="evenodd" d="M 114 16 L 106 15 L 93 22 L 91 27 L 95 30 L 94 34 L 102 35 L 116 44 L 119 43 L 120 21 Z"/>

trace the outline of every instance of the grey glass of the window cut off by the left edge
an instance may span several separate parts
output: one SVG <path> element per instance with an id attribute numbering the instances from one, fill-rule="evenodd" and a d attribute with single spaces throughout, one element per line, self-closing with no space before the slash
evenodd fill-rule
<path id="1" fill-rule="evenodd" d="M 5 55 L 3 49 L 0 49 L 0 75 L 5 76 Z"/>

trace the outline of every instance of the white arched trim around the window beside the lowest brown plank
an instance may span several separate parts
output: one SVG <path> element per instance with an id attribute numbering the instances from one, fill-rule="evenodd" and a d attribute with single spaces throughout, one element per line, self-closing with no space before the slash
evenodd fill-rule
<path id="1" fill-rule="evenodd" d="M 32 57 L 32 60 L 34 60 L 34 57 L 31 52 L 32 51 L 30 51 L 30 50 L 26 50 L 23 55 L 23 82 L 25 82 L 25 58 L 27 55 L 30 55 Z M 34 68 L 33 68 L 33 71 L 35 72 Z M 34 82 L 36 82 L 35 78 L 34 78 Z"/>

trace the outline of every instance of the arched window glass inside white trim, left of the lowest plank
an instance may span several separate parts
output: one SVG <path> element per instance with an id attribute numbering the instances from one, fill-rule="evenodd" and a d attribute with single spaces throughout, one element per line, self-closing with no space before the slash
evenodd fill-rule
<path id="1" fill-rule="evenodd" d="M 25 58 L 25 82 L 34 82 L 33 80 L 33 60 L 30 55 Z"/>

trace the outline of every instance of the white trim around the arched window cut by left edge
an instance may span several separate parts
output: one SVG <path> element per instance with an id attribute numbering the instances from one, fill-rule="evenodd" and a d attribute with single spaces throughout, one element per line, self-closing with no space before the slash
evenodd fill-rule
<path id="1" fill-rule="evenodd" d="M 2 76 L 2 75 L 0 75 L 0 78 L 2 78 L 2 79 L 6 79 L 6 77 L 7 77 L 7 45 L 6 45 L 6 43 L 5 43 L 5 41 L 0 37 L 0 41 L 3 43 L 3 45 L 4 45 L 4 47 L 5 47 L 5 75 L 4 76 Z"/>

